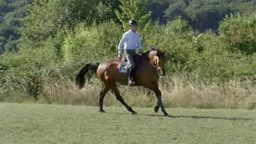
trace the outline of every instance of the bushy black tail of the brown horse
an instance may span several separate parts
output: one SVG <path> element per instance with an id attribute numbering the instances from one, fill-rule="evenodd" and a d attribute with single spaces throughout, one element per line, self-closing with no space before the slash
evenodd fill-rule
<path id="1" fill-rule="evenodd" d="M 80 72 L 76 76 L 76 84 L 78 85 L 79 88 L 83 88 L 84 83 L 85 83 L 85 74 L 91 70 L 92 72 L 96 72 L 98 68 L 99 62 L 92 62 L 88 63 L 83 66 L 83 68 L 80 69 Z"/>

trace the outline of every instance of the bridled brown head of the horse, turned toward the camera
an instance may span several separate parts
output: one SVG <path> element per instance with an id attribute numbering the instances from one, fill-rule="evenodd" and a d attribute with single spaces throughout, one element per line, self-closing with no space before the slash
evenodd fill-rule
<path id="1" fill-rule="evenodd" d="M 165 76 L 165 52 L 153 49 L 149 53 L 149 59 L 160 75 Z"/>

